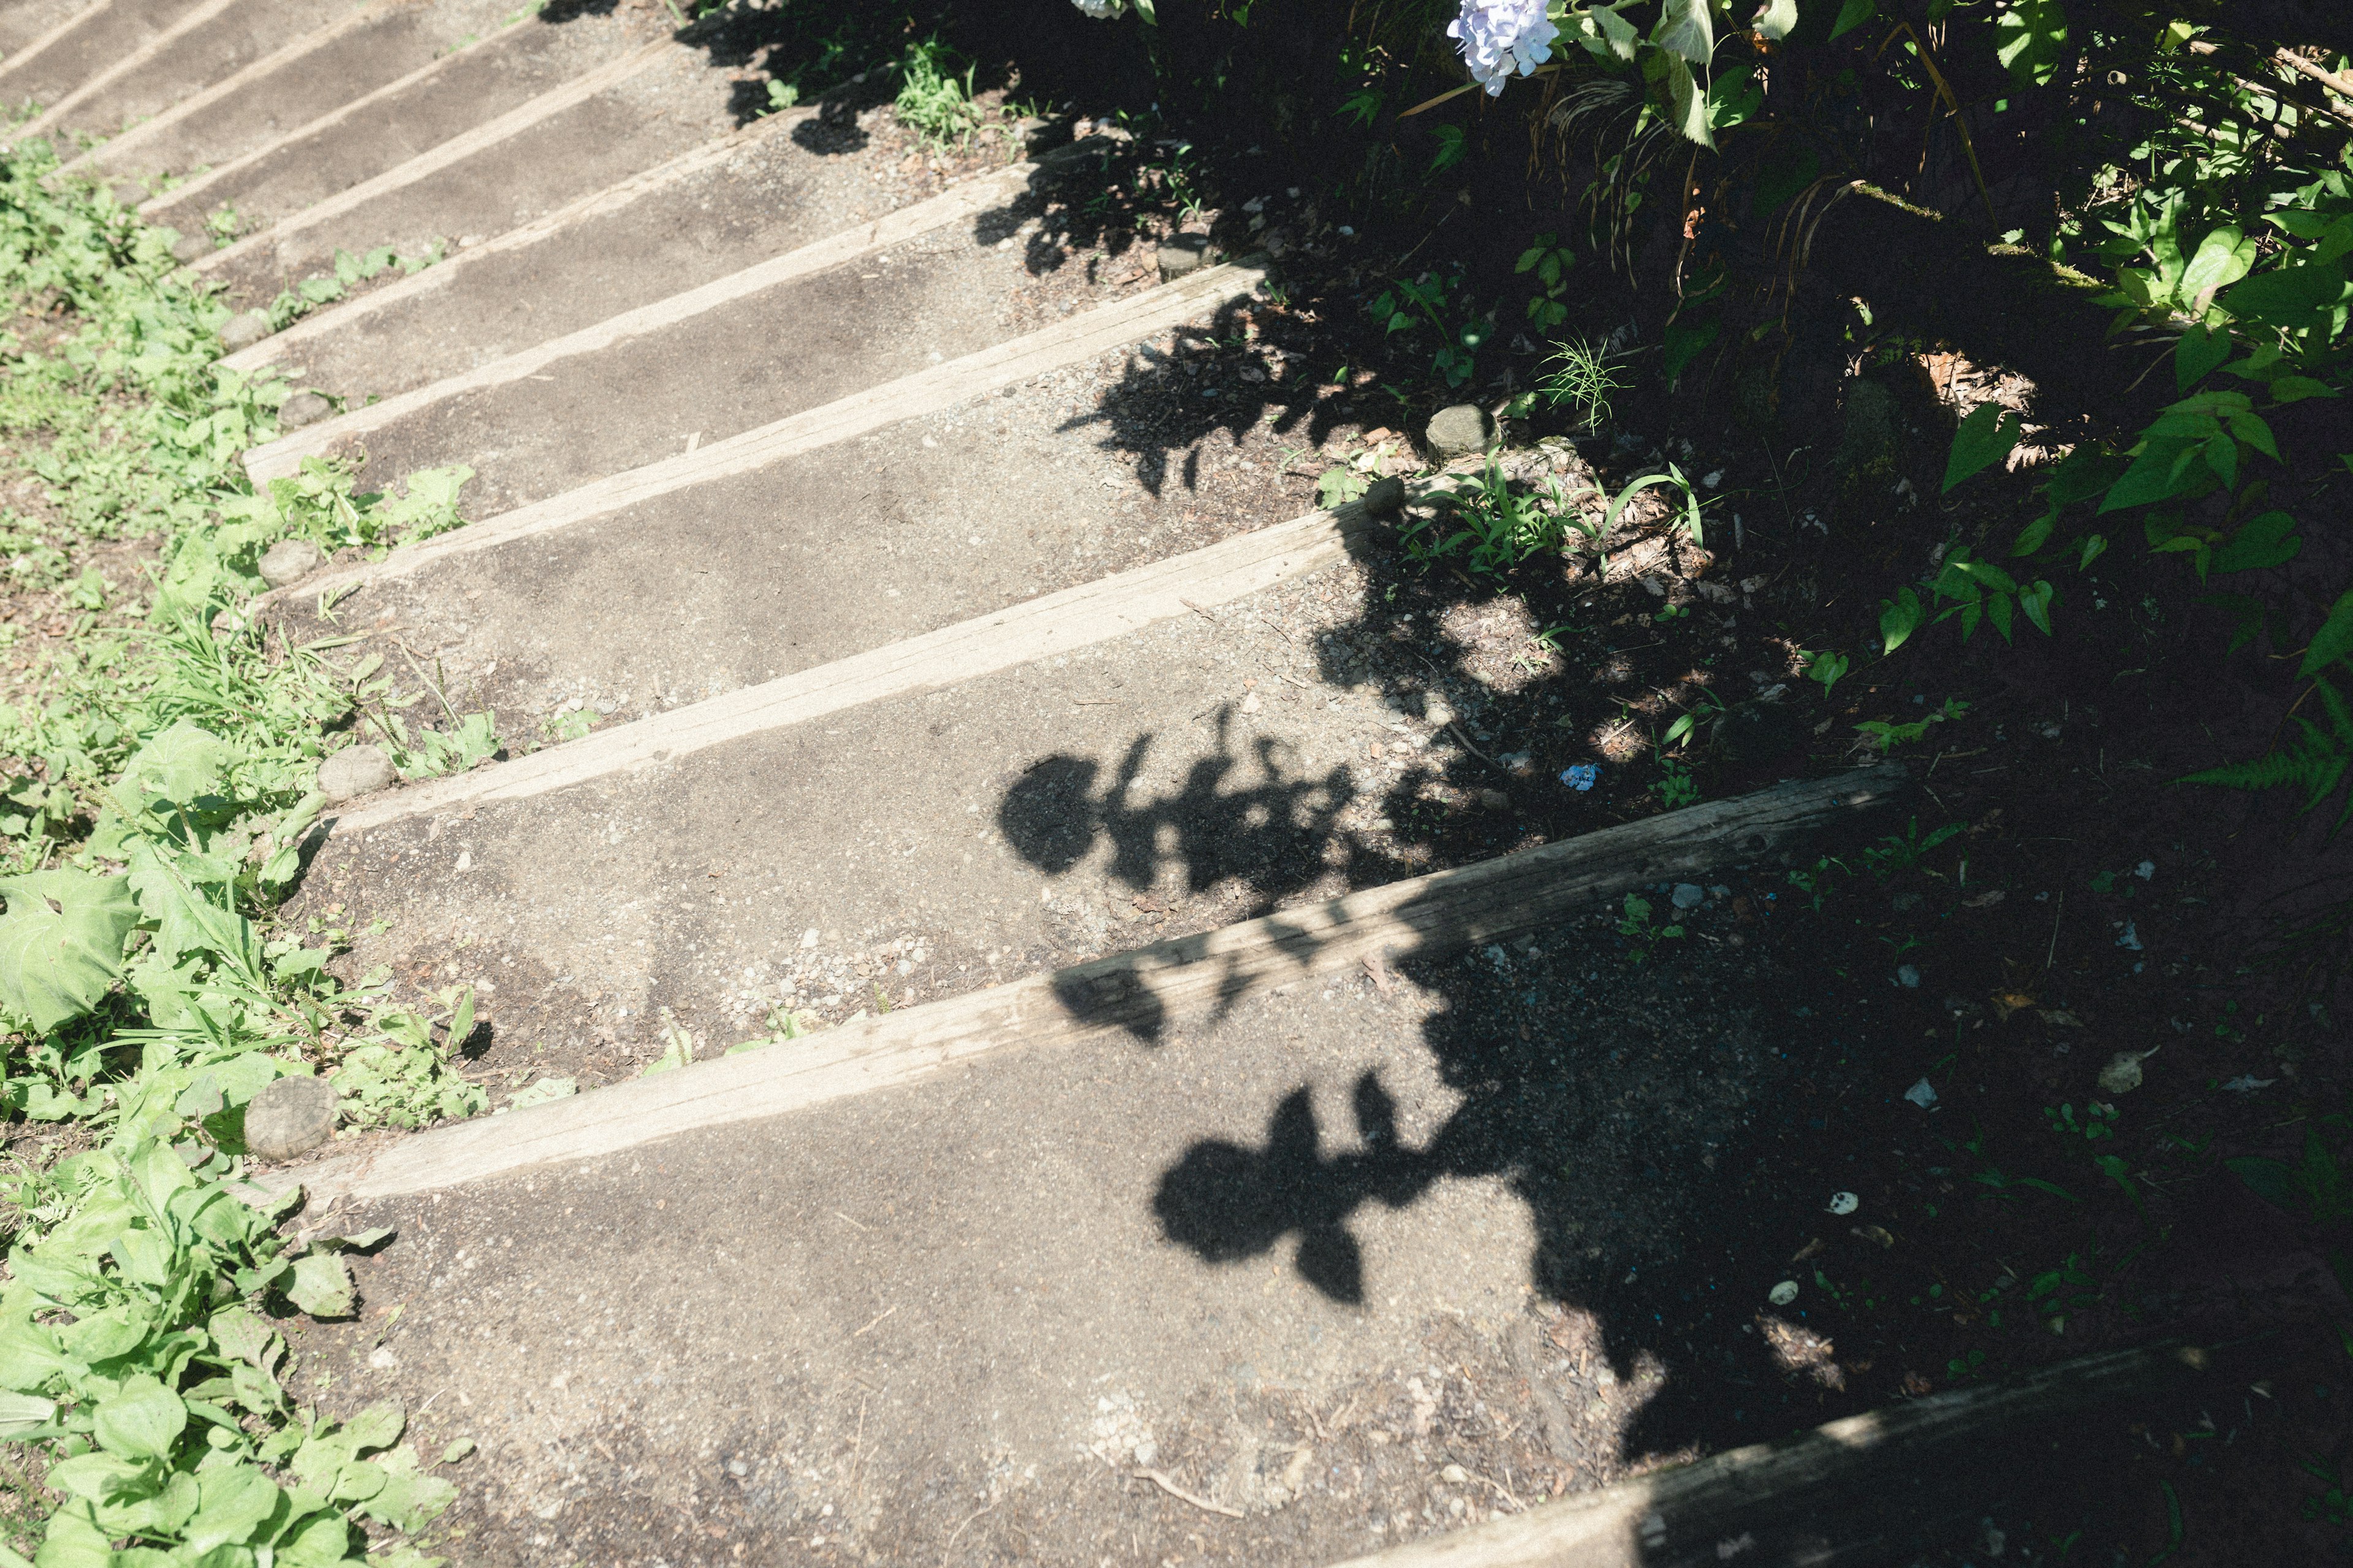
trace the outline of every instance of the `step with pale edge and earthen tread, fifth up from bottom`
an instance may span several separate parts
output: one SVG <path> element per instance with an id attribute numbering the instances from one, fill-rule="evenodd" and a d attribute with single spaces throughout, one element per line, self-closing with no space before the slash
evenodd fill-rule
<path id="1" fill-rule="evenodd" d="M 466 461 L 471 505 L 504 512 L 725 442 L 1019 336 L 1026 256 L 1000 249 L 1045 202 L 1035 165 L 772 256 L 518 355 L 358 407 L 247 454 L 256 480 L 365 451 L 384 484 Z M 1118 299 L 1118 289 L 1104 289 Z M 365 383 L 353 393 L 374 390 Z"/>

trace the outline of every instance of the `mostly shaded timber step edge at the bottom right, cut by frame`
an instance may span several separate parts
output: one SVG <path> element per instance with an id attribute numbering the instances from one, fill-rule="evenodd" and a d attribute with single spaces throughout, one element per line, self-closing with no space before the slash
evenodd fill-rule
<path id="1" fill-rule="evenodd" d="M 2028 1458 L 2014 1443 L 2021 1429 L 2160 1392 L 2202 1371 L 2207 1354 L 2179 1345 L 2080 1356 L 2007 1382 L 1833 1420 L 1777 1443 L 1732 1448 L 1334 1568 L 1701 1568 L 1732 1559 L 1845 1561 L 1847 1549 L 1866 1547 L 1861 1559 L 1899 1533 L 1894 1519 L 1932 1502 L 1946 1483 L 1988 1469 L 2017 1479 L 2045 1465 L 2042 1455 Z"/>

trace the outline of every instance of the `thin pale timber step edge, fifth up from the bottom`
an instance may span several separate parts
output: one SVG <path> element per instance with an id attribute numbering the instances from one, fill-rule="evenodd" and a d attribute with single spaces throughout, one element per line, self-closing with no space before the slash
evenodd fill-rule
<path id="1" fill-rule="evenodd" d="M 442 376 L 440 381 L 384 397 L 381 402 L 351 409 L 348 414 L 322 418 L 320 423 L 306 425 L 294 435 L 282 435 L 266 447 L 247 451 L 245 473 L 254 484 L 266 484 L 268 480 L 301 470 L 301 461 L 306 456 L 318 456 L 336 442 L 362 437 L 369 430 L 381 430 L 438 402 L 525 381 L 534 371 L 544 371 L 560 360 L 572 360 L 631 339 L 649 336 L 704 315 L 706 310 L 718 310 L 720 306 L 760 294 L 762 289 L 774 289 L 798 277 L 845 266 L 859 256 L 871 256 L 894 244 L 904 244 L 932 233 L 934 228 L 986 212 L 986 205 L 1005 197 L 1007 186 L 1026 186 L 1033 174 L 1038 174 L 1038 165 L 1019 162 L 967 179 L 925 202 L 901 207 L 899 212 L 889 212 L 868 223 L 859 223 L 856 228 L 828 235 L 814 244 L 784 252 L 781 256 L 769 256 L 767 261 L 753 263 L 739 273 L 713 277 L 711 282 L 687 289 L 685 294 L 656 299 L 647 306 L 638 306 L 635 310 L 624 310 L 621 315 L 581 327 L 579 331 L 567 331 L 560 339 L 548 339 L 546 343 L 534 343 L 520 353 L 492 360 L 489 364 L 478 364 L 468 371 Z M 424 277 L 424 273 L 419 273 L 419 277 Z"/>

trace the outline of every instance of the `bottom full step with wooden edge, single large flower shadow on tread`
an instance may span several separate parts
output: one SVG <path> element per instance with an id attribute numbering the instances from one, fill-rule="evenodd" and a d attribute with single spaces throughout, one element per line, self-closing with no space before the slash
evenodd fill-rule
<path id="1" fill-rule="evenodd" d="M 1609 1483 L 1689 1363 L 1626 1286 L 1725 1267 L 1675 1269 L 1701 1150 L 1779 1121 L 1802 1025 L 1572 912 L 1873 783 L 294 1168 L 332 1227 L 398 1232 L 304 1371 L 480 1443 L 452 1526 L 494 1563 L 1329 1563 Z"/>

